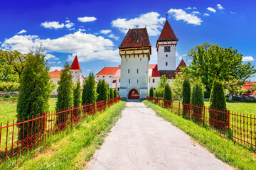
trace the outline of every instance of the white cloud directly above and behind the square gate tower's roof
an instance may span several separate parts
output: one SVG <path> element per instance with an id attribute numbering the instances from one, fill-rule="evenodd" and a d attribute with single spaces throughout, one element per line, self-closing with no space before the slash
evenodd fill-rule
<path id="1" fill-rule="evenodd" d="M 159 35 L 161 32 L 159 29 L 162 28 L 162 24 L 166 21 L 165 18 L 160 17 L 159 13 L 150 12 L 145 13 L 137 18 L 127 19 L 127 18 L 117 18 L 112 21 L 112 26 L 119 28 L 122 33 L 127 33 L 129 28 L 144 28 L 146 27 L 149 35 L 155 36 Z"/>

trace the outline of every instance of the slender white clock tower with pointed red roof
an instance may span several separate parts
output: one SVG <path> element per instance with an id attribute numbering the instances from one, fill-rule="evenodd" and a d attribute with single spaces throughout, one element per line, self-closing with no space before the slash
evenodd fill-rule
<path id="1" fill-rule="evenodd" d="M 166 20 L 159 39 L 156 41 L 157 66 L 159 72 L 176 70 L 176 44 L 178 38 Z M 160 73 L 161 74 L 161 73 Z"/>

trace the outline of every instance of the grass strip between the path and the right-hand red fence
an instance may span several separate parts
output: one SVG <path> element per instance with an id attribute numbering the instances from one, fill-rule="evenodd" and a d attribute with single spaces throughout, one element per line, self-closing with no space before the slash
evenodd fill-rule
<path id="1" fill-rule="evenodd" d="M 149 108 L 152 108 L 162 118 L 186 132 L 193 140 L 206 147 L 210 152 L 215 154 L 215 157 L 223 160 L 223 162 L 238 169 L 255 169 L 256 154 L 250 152 L 249 149 L 234 144 L 231 140 L 227 140 L 215 132 L 193 123 L 191 120 L 181 118 L 171 113 L 169 109 L 161 108 L 149 101 L 143 101 L 143 103 L 149 106 Z"/>

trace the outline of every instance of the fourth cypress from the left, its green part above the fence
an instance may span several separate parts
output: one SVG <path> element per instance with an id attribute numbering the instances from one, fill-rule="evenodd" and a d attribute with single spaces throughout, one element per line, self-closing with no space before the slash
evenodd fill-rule
<path id="1" fill-rule="evenodd" d="M 82 89 L 82 104 L 95 103 L 97 99 L 95 76 L 90 72 Z"/>

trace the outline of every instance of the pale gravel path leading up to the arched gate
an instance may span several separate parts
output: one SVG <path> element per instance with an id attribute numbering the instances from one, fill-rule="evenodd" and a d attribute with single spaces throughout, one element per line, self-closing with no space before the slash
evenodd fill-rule
<path id="1" fill-rule="evenodd" d="M 127 102 L 87 169 L 232 169 L 141 102 Z"/>

